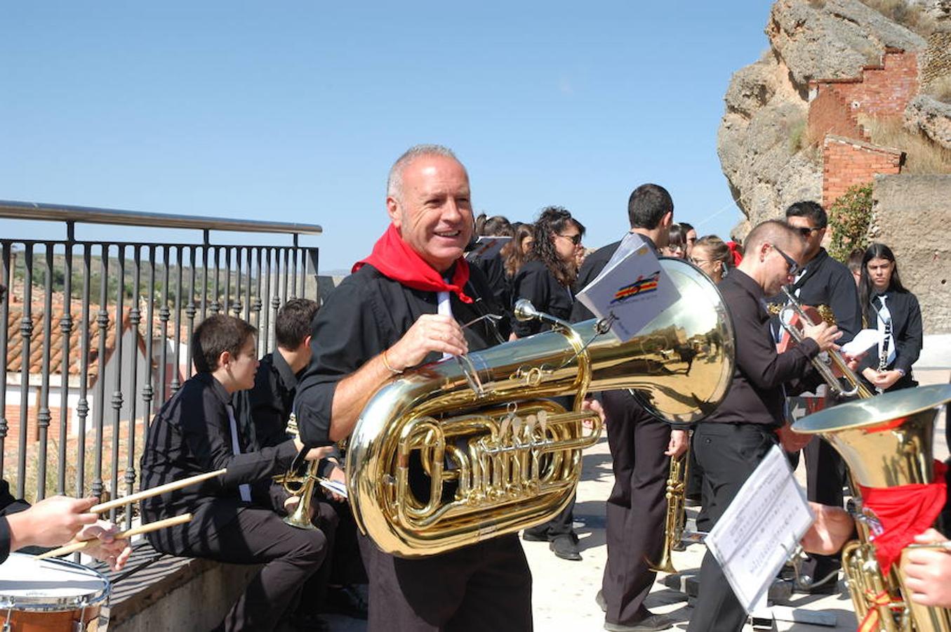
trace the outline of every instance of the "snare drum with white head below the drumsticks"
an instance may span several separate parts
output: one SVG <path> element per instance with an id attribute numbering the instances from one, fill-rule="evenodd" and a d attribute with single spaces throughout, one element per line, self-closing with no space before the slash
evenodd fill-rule
<path id="1" fill-rule="evenodd" d="M 3 632 L 73 632 L 99 627 L 109 582 L 86 566 L 10 553 L 0 564 Z"/>

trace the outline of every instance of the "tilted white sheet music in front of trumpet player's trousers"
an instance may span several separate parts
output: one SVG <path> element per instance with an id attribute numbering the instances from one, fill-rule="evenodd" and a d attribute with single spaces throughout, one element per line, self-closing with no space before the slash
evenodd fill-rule
<path id="1" fill-rule="evenodd" d="M 706 541 L 747 612 L 764 604 L 769 585 L 813 520 L 783 448 L 774 445 Z"/>

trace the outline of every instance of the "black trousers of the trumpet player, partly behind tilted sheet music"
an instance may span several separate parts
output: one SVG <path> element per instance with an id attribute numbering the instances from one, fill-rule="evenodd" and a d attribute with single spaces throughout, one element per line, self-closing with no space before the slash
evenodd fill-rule
<path id="1" fill-rule="evenodd" d="M 704 517 L 701 531 L 709 531 L 746 483 L 756 466 L 778 443 L 772 429 L 755 424 L 700 423 L 693 431 L 693 449 L 704 470 Z M 707 552 L 700 567 L 700 594 L 688 632 L 737 632 L 747 612 L 733 594 L 723 569 Z"/>

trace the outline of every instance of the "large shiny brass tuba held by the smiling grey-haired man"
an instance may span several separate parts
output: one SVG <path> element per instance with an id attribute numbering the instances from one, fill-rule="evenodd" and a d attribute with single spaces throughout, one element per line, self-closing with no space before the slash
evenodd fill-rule
<path id="1" fill-rule="evenodd" d="M 627 343 L 591 320 L 420 366 L 382 386 L 347 450 L 363 533 L 421 557 L 544 523 L 572 498 L 600 434 L 589 390 L 631 388 L 654 414 L 690 422 L 726 396 L 733 329 L 708 278 L 663 260 L 680 299 Z M 694 346 L 692 365 L 676 353 Z M 566 410 L 551 398 L 573 396 Z M 585 422 L 592 431 L 584 432 Z"/>

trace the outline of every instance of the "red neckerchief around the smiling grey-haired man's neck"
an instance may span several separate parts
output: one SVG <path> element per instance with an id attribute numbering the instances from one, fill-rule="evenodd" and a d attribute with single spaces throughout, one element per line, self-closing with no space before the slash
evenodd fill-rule
<path id="1" fill-rule="evenodd" d="M 401 285 L 427 292 L 453 292 L 463 303 L 473 300 L 462 291 L 469 282 L 469 263 L 464 257 L 456 259 L 452 283 L 446 283 L 437 270 L 422 260 L 417 251 L 399 236 L 397 227 L 390 225 L 377 240 L 369 257 L 354 264 L 356 272 L 363 264 L 376 267 L 380 274 Z"/>

